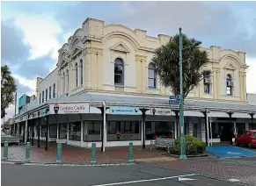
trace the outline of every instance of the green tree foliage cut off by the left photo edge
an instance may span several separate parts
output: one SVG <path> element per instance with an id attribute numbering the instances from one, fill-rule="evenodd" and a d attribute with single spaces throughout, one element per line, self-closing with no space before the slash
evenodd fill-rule
<path id="1" fill-rule="evenodd" d="M 17 90 L 15 79 L 11 76 L 7 65 L 1 67 L 1 118 L 5 116 L 5 110 L 14 102 L 14 93 Z"/>

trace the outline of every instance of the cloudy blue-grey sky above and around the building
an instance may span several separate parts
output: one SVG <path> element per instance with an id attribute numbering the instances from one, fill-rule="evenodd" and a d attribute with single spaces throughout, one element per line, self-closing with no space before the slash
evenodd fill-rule
<path id="1" fill-rule="evenodd" d="M 35 93 L 36 77 L 55 68 L 58 49 L 88 17 L 151 36 L 181 26 L 205 47 L 244 51 L 247 92 L 256 93 L 256 2 L 2 2 L 1 9 L 1 61 L 17 79 L 18 97 Z"/>

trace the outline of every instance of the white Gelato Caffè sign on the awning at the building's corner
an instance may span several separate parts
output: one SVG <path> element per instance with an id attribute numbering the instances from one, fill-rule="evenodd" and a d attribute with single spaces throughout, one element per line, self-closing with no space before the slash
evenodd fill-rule
<path id="1" fill-rule="evenodd" d="M 51 114 L 81 114 L 89 113 L 89 104 L 51 104 Z"/>

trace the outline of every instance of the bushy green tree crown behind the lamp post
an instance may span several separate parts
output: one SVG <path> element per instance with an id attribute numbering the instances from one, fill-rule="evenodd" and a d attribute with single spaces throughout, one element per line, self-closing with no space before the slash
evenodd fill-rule
<path id="1" fill-rule="evenodd" d="M 195 39 L 188 39 L 183 34 L 183 93 L 184 98 L 188 93 L 199 86 L 203 76 L 210 74 L 204 70 L 208 64 L 208 54 L 197 46 L 192 46 Z M 174 95 L 179 95 L 179 34 L 171 37 L 166 45 L 156 49 L 152 58 L 157 68 L 160 83 L 170 87 Z"/>

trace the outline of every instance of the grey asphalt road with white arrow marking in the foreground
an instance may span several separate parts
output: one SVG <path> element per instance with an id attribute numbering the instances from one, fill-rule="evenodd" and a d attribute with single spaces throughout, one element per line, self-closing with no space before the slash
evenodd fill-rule
<path id="1" fill-rule="evenodd" d="M 28 166 L 2 163 L 3 186 L 234 186 L 202 175 L 147 165 L 106 167 Z"/>

